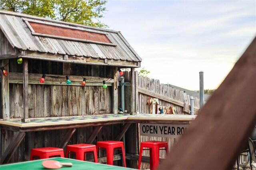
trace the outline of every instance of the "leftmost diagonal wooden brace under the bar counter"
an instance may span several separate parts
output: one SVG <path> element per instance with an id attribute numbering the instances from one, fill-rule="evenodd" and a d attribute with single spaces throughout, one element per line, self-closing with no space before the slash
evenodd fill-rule
<path id="1" fill-rule="evenodd" d="M 24 139 L 25 134 L 25 132 L 18 132 L 18 134 L 12 139 L 11 143 L 9 143 L 8 147 L 1 156 L 1 164 L 8 163 L 10 161 L 14 152 L 20 145 L 21 141 Z"/>

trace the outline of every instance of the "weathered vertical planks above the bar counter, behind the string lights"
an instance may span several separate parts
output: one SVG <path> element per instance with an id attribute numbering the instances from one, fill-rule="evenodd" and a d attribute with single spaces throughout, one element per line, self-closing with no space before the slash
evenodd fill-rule
<path id="1" fill-rule="evenodd" d="M 10 60 L 10 72 L 21 72 L 22 65 Z M 62 63 L 29 60 L 29 73 L 62 75 Z M 70 65 L 70 75 L 113 76 L 111 67 L 81 64 Z M 108 74 L 107 74 L 108 73 Z M 64 75 L 65 76 L 65 75 Z M 112 78 L 112 77 L 110 77 Z M 38 77 L 38 80 L 40 77 Z M 107 78 L 106 78 L 107 79 Z M 72 80 L 71 80 L 72 81 Z M 112 113 L 111 88 L 102 86 L 28 85 L 29 117 L 91 115 Z M 10 118 L 23 117 L 22 84 L 10 83 Z M 108 99 L 108 100 L 106 100 Z"/>

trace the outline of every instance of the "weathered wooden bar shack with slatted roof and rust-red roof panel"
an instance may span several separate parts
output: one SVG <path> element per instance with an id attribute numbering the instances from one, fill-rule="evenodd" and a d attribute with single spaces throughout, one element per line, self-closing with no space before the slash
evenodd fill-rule
<path id="1" fill-rule="evenodd" d="M 134 72 L 142 61 L 119 31 L 3 10 L 0 59 L 8 72 L 7 76 L 1 72 L 1 119 L 19 118 L 22 122 L 38 117 L 117 114 L 118 68 Z M 44 83 L 40 83 L 43 74 Z M 81 86 L 84 78 L 86 85 Z M 134 90 L 130 92 L 129 96 L 134 96 Z M 128 112 L 135 111 L 131 107 L 126 108 Z M 77 130 L 52 126 L 57 130 L 40 131 L 41 127 L 27 130 L 26 136 L 20 130 L 2 127 L 1 163 L 29 160 L 30 150 L 36 147 L 116 138 L 122 121 L 109 125 L 111 120 L 102 123 L 106 125 L 103 128 L 93 128 L 96 123 L 72 125 L 79 127 Z"/>

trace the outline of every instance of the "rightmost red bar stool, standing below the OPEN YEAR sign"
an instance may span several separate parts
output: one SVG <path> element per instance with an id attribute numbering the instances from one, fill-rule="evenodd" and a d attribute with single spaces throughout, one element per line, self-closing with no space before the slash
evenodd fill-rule
<path id="1" fill-rule="evenodd" d="M 149 149 L 143 149 L 143 148 L 149 148 Z M 165 149 L 160 149 L 160 148 L 165 148 Z M 139 155 L 139 161 L 138 161 L 138 169 L 140 169 L 140 163 L 141 163 L 141 157 L 142 157 L 143 150 L 149 150 L 150 170 L 155 170 L 159 164 L 159 150 L 166 150 L 167 154 L 169 152 L 167 142 L 161 142 L 161 141 L 141 142 L 140 143 L 140 155 Z"/>

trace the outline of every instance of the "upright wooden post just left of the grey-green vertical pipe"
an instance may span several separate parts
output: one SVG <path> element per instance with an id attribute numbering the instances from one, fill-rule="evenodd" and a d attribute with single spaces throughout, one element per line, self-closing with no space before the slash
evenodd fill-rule
<path id="1" fill-rule="evenodd" d="M 114 84 L 112 86 L 113 88 L 113 113 L 117 114 L 118 113 L 118 86 L 117 86 L 117 81 L 118 81 L 118 74 L 117 74 L 117 67 L 114 67 Z"/>

